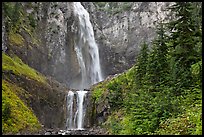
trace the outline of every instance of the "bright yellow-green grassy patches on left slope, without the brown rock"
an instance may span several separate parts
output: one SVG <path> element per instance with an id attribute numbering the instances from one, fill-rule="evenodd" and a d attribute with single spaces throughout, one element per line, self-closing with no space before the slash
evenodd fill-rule
<path id="1" fill-rule="evenodd" d="M 17 56 L 13 58 L 2 54 L 2 71 L 12 71 L 15 75 L 25 75 L 29 79 L 45 84 L 45 77 L 28 65 L 24 64 Z M 31 108 L 25 105 L 19 96 L 29 96 L 23 88 L 2 79 L 2 132 L 15 134 L 17 132 L 33 132 L 40 128 L 40 123 Z"/>

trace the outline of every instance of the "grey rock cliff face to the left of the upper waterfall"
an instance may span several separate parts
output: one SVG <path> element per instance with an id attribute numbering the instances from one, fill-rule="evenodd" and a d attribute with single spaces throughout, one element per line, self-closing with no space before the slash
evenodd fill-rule
<path id="1" fill-rule="evenodd" d="M 36 22 L 34 31 L 29 25 L 17 32 L 23 43 L 17 45 L 6 38 L 3 33 L 2 48 L 5 52 L 18 55 L 26 64 L 39 72 L 54 77 L 57 81 L 69 86 L 70 81 L 79 74 L 79 66 L 74 51 L 73 3 L 69 2 L 29 2 L 21 3 L 28 16 Z M 3 21 L 4 23 L 4 21 Z M 22 26 L 20 26 L 22 27 Z M 4 26 L 2 26 L 4 30 Z"/>

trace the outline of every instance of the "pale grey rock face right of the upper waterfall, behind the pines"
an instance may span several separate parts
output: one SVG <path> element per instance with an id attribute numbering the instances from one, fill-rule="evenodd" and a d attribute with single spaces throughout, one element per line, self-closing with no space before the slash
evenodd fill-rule
<path id="1" fill-rule="evenodd" d="M 121 73 L 135 63 L 141 42 L 150 43 L 156 35 L 155 25 L 171 18 L 165 11 L 171 4 L 107 2 L 99 6 L 97 2 L 83 2 L 91 15 L 105 76 Z"/>

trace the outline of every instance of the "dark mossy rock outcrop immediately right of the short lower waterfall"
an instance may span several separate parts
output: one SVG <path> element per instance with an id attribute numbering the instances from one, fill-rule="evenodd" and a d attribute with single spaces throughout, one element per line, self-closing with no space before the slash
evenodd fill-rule
<path id="1" fill-rule="evenodd" d="M 108 76 L 104 81 L 91 86 L 87 94 L 86 128 L 102 125 L 111 114 L 110 91 L 107 90 L 106 84 L 117 76 L 119 75 Z M 101 93 L 97 93 L 98 91 Z"/>

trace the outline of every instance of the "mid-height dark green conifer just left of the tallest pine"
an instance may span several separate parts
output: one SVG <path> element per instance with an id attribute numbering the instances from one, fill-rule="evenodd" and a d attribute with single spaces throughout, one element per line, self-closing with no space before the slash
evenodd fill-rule
<path id="1" fill-rule="evenodd" d="M 150 88 L 156 90 L 156 86 L 166 84 L 168 63 L 167 53 L 168 47 L 166 45 L 166 35 L 164 33 L 164 26 L 160 23 L 157 26 L 157 38 L 153 41 L 152 51 L 149 54 L 147 67 L 147 81 Z"/>

